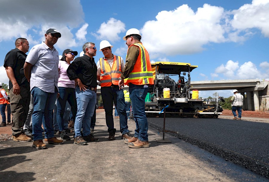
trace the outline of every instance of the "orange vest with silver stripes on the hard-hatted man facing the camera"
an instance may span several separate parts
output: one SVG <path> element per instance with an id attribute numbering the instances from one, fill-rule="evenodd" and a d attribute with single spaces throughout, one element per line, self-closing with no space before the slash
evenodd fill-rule
<path id="1" fill-rule="evenodd" d="M 114 55 L 114 61 L 112 68 L 110 67 L 107 59 L 100 58 L 100 86 L 101 87 L 110 87 L 112 84 L 118 85 L 119 78 L 121 75 L 121 64 L 120 64 L 121 57 Z"/>

